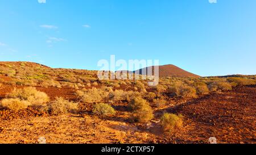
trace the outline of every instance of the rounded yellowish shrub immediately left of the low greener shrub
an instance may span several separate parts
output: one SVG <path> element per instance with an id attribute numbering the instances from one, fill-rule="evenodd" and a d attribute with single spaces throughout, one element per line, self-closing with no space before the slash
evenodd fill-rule
<path id="1" fill-rule="evenodd" d="M 52 115 L 76 113 L 79 110 L 78 103 L 70 102 L 63 98 L 56 98 L 48 105 L 48 111 Z"/>

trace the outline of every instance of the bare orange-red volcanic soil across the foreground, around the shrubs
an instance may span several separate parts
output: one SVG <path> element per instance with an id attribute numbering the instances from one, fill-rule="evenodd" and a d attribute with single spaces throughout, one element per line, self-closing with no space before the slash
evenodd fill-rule
<path id="1" fill-rule="evenodd" d="M 3 98 L 13 87 L 0 89 Z M 73 89 L 41 88 L 51 99 L 76 100 Z M 49 116 L 33 108 L 0 112 L 0 143 L 36 143 L 39 135 L 48 143 L 256 143 L 256 86 L 236 87 L 232 91 L 212 93 L 184 103 L 170 104 L 154 111 L 147 124 L 130 123 L 127 104 L 115 103 L 117 115 L 102 119 L 82 115 Z M 170 99 L 170 102 L 179 102 Z M 84 105 L 88 108 L 88 105 Z M 164 133 L 159 118 L 164 112 L 182 114 L 183 128 Z M 47 129 L 47 130 L 46 130 Z M 8 135 L 8 136 L 7 136 Z"/>

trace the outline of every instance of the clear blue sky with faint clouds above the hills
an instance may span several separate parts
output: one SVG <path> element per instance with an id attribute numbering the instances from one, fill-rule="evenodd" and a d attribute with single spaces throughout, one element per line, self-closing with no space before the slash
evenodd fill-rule
<path id="1" fill-rule="evenodd" d="M 0 0 L 0 61 L 97 70 L 115 55 L 256 74 L 255 42 L 255 0 Z"/>

